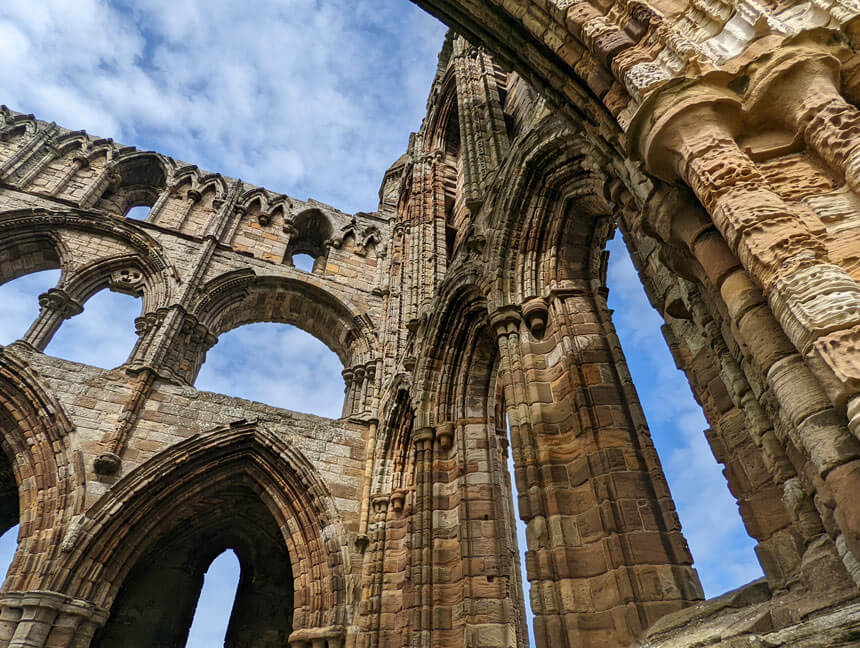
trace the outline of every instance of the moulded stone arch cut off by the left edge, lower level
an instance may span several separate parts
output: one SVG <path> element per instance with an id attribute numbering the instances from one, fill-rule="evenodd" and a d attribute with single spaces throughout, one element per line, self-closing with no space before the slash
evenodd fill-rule
<path id="1" fill-rule="evenodd" d="M 18 488 L 21 530 L 3 590 L 44 589 L 73 516 L 84 505 L 83 459 L 73 425 L 26 364 L 0 350 L 0 446 Z"/>

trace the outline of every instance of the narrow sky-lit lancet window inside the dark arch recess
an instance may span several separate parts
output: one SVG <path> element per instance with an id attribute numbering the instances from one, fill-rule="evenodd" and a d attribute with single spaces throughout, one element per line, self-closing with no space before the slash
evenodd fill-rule
<path id="1" fill-rule="evenodd" d="M 239 587 L 239 573 L 239 559 L 232 549 L 222 553 L 209 565 L 203 575 L 203 589 L 197 600 L 185 648 L 224 645 Z"/>

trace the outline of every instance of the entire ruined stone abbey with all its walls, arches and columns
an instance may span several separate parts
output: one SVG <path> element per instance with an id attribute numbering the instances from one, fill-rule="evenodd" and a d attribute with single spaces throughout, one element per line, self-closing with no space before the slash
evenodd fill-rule
<path id="1" fill-rule="evenodd" d="M 0 646 L 180 646 L 226 549 L 233 648 L 524 648 L 526 598 L 541 648 L 858 645 L 860 8 L 418 4 L 460 35 L 373 213 L 0 109 L 0 281 L 61 270 L 0 349 Z M 765 574 L 711 601 L 615 229 Z M 45 355 L 104 288 L 140 297 L 127 361 Z M 194 389 L 261 321 L 337 354 L 341 418 Z"/>

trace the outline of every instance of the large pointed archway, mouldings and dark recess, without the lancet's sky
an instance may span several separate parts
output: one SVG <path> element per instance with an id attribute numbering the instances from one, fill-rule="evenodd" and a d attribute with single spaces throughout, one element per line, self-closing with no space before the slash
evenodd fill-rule
<path id="1" fill-rule="evenodd" d="M 96 502 L 51 589 L 112 610 L 94 645 L 132 645 L 132 637 L 141 646 L 173 645 L 188 632 L 208 561 L 233 548 L 246 575 L 230 641 L 268 647 L 337 638 L 350 596 L 340 525 L 300 452 L 259 425 L 219 428 L 156 455 Z M 165 587 L 175 605 L 154 603 Z"/>

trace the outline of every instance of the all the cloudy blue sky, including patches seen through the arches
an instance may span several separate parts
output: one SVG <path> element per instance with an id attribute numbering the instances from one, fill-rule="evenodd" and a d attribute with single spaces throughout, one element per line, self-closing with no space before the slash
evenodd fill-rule
<path id="1" fill-rule="evenodd" d="M 372 211 L 383 172 L 424 114 L 444 31 L 406 0 L 5 0 L 0 103 L 297 198 Z M 610 250 L 619 336 L 713 596 L 761 572 L 659 317 L 620 238 Z M 0 344 L 26 331 L 37 295 L 57 276 L 0 287 Z M 48 353 L 119 365 L 139 308 L 131 297 L 100 293 Z M 258 324 L 221 336 L 197 386 L 336 417 L 341 368 L 303 332 Z M 8 564 L 14 533 L 0 550 Z M 213 563 L 188 646 L 223 641 L 237 575 L 232 555 Z"/>

